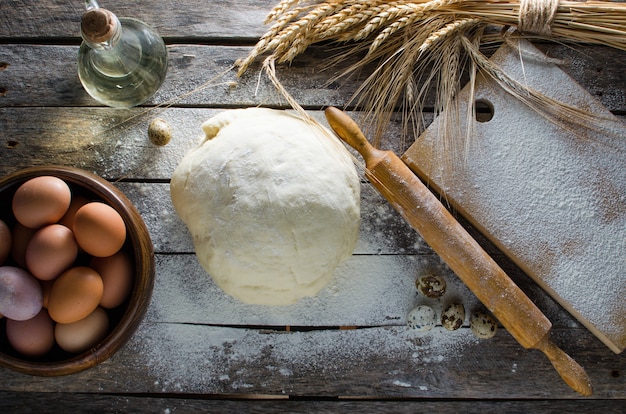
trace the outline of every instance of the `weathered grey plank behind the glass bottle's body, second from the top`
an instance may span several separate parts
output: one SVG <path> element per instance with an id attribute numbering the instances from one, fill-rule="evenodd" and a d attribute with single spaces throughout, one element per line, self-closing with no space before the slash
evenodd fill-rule
<path id="1" fill-rule="evenodd" d="M 562 69 L 586 87 L 614 112 L 626 112 L 626 79 L 623 63 L 626 51 L 609 48 L 540 45 L 550 56 L 563 59 Z M 170 45 L 165 83 L 150 104 L 174 106 L 280 106 L 286 101 L 255 64 L 242 78 L 229 70 L 250 47 Z M 2 106 L 99 106 L 83 90 L 77 75 L 77 46 L 3 45 L 0 48 L 0 107 Z M 291 65 L 279 65 L 277 74 L 298 103 L 308 108 L 342 106 L 360 86 L 363 78 L 331 82 L 336 74 L 355 62 L 348 59 L 332 69 L 325 63 L 337 52 L 312 47 Z M 56 64 L 51 65 L 50 62 Z M 364 70 L 366 76 L 370 69 Z M 191 93 L 192 91 L 195 91 Z M 434 90 L 427 96 L 434 103 Z"/>

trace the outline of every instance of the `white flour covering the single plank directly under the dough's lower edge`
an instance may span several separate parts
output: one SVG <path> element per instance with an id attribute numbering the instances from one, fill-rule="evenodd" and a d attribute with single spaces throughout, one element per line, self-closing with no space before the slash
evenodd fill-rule
<path id="1" fill-rule="evenodd" d="M 418 295 L 415 279 L 437 272 L 447 281 L 442 299 Z M 294 305 L 246 305 L 224 294 L 192 256 L 157 255 L 157 277 L 146 322 L 237 326 L 388 326 L 406 323 L 417 305 L 437 312 L 449 302 L 479 305 L 433 256 L 353 256 L 315 297 Z M 468 322 L 468 321 L 466 321 Z"/>

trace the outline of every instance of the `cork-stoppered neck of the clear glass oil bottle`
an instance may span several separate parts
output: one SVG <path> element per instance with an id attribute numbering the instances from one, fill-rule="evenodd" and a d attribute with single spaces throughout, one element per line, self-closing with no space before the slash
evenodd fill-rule
<path id="1" fill-rule="evenodd" d="M 90 48 L 108 50 L 117 45 L 122 35 L 122 25 L 109 10 L 92 9 L 83 14 L 80 34 Z"/>

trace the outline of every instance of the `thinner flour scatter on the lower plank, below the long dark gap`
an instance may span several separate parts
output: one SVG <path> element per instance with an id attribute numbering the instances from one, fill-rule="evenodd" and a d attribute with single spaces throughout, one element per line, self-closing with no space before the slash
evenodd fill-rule
<path id="1" fill-rule="evenodd" d="M 139 356 L 136 364 L 155 378 L 159 392 L 274 392 L 282 387 L 289 393 L 290 384 L 300 378 L 353 377 L 354 369 L 384 372 L 385 361 L 402 359 L 405 369 L 388 372 L 389 384 L 412 387 L 411 378 L 422 384 L 426 380 L 415 378 L 420 370 L 451 363 L 476 343 L 467 328 L 454 332 L 435 328 L 418 335 L 400 326 L 269 332 L 144 324 L 129 346 Z"/>

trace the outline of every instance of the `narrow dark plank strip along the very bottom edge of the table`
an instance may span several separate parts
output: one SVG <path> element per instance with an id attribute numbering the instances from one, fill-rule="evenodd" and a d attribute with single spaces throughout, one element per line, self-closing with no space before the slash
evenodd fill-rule
<path id="1" fill-rule="evenodd" d="M 0 409 L 4 412 L 48 412 L 54 407 L 59 412 L 82 412 L 89 407 L 93 412 L 106 413 L 303 413 L 315 412 L 367 412 L 414 414 L 428 413 L 571 413 L 602 412 L 621 414 L 626 402 L 623 400 L 525 400 L 507 401 L 455 401 L 415 399 L 412 401 L 385 400 L 383 398 L 357 399 L 288 399 L 283 397 L 257 396 L 255 399 L 219 396 L 169 395 L 145 397 L 136 395 L 111 396 L 102 394 L 16 393 L 0 392 Z"/>

